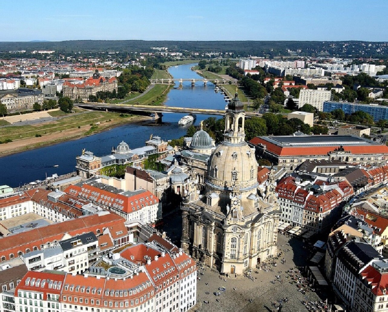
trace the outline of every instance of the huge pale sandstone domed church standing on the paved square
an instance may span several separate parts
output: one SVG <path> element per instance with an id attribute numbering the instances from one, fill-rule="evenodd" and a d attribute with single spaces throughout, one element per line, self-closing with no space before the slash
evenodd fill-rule
<path id="1" fill-rule="evenodd" d="M 257 192 L 255 153 L 245 142 L 245 112 L 237 98 L 226 111 L 224 141 L 211 153 L 202 195 L 190 177 L 182 204 L 182 248 L 222 273 L 242 274 L 277 253 L 279 213 L 274 174 Z"/>

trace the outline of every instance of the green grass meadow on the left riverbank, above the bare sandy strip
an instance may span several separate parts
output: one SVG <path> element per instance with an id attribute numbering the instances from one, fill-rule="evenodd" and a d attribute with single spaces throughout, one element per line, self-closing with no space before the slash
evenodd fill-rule
<path id="1" fill-rule="evenodd" d="M 22 125 L 22 126 L 11 126 L 0 129 L 0 137 L 3 139 L 21 139 L 33 137 L 36 134 L 44 135 L 58 131 L 66 131 L 74 129 L 78 126 L 95 124 L 97 122 L 104 122 L 106 120 L 120 119 L 118 113 L 107 113 L 107 112 L 88 112 L 80 115 L 69 115 L 54 122 L 37 125 Z M 64 133 L 64 136 L 66 132 Z"/>

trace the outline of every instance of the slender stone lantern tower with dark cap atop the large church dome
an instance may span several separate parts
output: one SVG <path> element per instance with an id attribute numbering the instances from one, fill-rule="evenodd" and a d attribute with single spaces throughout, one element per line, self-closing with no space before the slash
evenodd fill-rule
<path id="1" fill-rule="evenodd" d="M 244 105 L 237 96 L 236 87 L 234 98 L 230 101 L 226 110 L 224 142 L 239 145 L 245 143 L 244 121 Z"/>

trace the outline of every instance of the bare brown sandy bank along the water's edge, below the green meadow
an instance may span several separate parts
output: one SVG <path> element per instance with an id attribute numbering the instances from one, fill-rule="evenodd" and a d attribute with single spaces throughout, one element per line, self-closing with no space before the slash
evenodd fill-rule
<path id="1" fill-rule="evenodd" d="M 119 115 L 118 113 L 112 114 Z M 27 138 L 15 139 L 12 140 L 12 142 L 0 144 L 0 157 L 12 155 L 26 150 L 32 150 L 43 146 L 49 146 L 56 143 L 81 139 L 92 134 L 97 134 L 103 131 L 113 129 L 115 127 L 119 127 L 121 125 L 135 124 L 144 122 L 146 120 L 152 120 L 152 117 L 130 115 L 130 117 L 123 117 L 121 119 L 110 119 L 105 122 L 102 121 L 98 125 L 82 125 L 67 129 L 64 132 L 62 132 L 62 130 L 59 130 L 56 132 L 51 132 L 49 134 L 42 134 L 42 136 L 30 136 Z M 48 122 L 47 124 L 51 124 L 51 122 Z"/>

